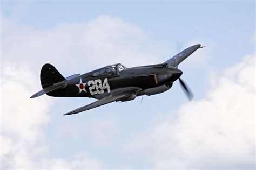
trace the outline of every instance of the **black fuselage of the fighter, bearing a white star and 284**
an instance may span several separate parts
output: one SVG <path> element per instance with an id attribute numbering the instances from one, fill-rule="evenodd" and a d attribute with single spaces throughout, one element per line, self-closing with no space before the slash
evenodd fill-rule
<path id="1" fill-rule="evenodd" d="M 126 68 L 124 70 L 112 69 L 112 72 L 103 73 L 103 67 L 89 73 L 79 75 L 67 82 L 67 86 L 48 93 L 56 97 L 92 97 L 101 98 L 118 88 L 138 87 L 139 95 L 153 95 L 162 93 L 171 88 L 183 73 L 179 69 L 166 64 L 149 65 Z"/>

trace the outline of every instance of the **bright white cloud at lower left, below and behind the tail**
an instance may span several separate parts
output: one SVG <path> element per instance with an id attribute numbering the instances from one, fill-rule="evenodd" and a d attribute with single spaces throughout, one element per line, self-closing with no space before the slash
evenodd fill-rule
<path id="1" fill-rule="evenodd" d="M 100 168 L 98 160 L 80 156 L 70 160 L 46 159 L 43 127 L 48 123 L 52 98 L 31 99 L 36 77 L 22 66 L 2 66 L 1 167 L 3 169 Z M 68 162 L 68 163 L 67 163 Z"/>

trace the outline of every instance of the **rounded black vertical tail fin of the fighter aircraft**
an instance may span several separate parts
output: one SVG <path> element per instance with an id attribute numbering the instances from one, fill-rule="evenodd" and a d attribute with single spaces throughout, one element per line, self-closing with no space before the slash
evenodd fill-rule
<path id="1" fill-rule="evenodd" d="M 65 80 L 65 78 L 58 72 L 58 70 L 49 63 L 46 63 L 42 67 L 40 79 L 43 89 Z"/>

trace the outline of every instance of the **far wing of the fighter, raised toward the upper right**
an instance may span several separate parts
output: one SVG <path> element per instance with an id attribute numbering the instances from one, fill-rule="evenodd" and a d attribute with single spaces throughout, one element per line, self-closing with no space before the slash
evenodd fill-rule
<path id="1" fill-rule="evenodd" d="M 200 48 L 200 44 L 193 45 L 181 51 L 179 54 L 173 56 L 171 59 L 165 61 L 164 63 L 168 63 L 169 66 L 176 67 L 180 62 L 185 60 L 188 56 L 190 56 L 193 52 L 195 52 L 198 48 Z"/>

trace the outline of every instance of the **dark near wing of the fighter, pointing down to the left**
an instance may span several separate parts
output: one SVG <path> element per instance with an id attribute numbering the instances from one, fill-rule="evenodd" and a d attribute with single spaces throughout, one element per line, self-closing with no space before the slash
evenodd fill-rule
<path id="1" fill-rule="evenodd" d="M 123 98 L 130 97 L 131 95 L 136 95 L 141 89 L 138 87 L 129 87 L 129 88 L 119 88 L 116 91 L 113 91 L 111 94 L 105 95 L 103 98 L 100 98 L 98 101 L 91 104 L 85 105 L 84 107 L 77 108 L 72 110 L 64 115 L 78 114 L 79 112 L 86 111 L 92 108 L 99 107 L 101 105 L 122 100 Z"/>

